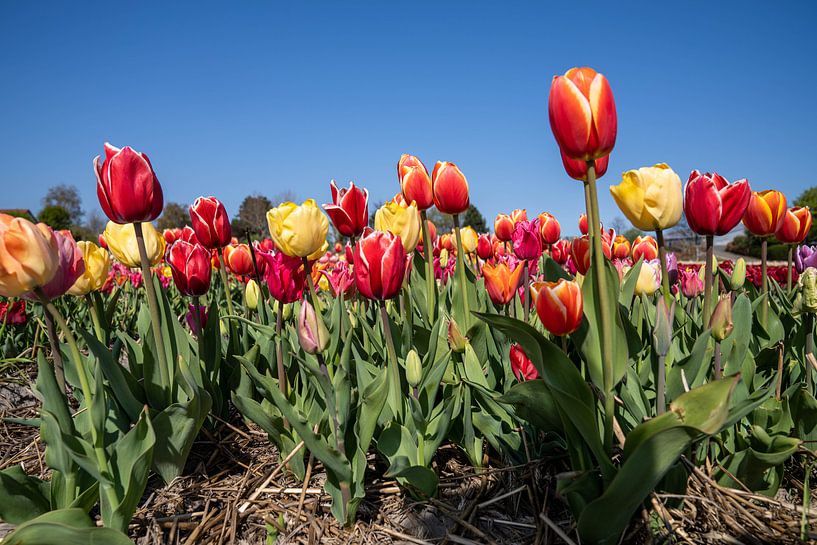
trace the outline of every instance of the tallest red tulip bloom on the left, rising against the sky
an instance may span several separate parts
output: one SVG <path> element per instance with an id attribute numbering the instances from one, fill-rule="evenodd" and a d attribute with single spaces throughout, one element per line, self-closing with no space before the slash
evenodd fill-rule
<path id="1" fill-rule="evenodd" d="M 148 156 L 105 143 L 105 160 L 94 159 L 96 194 L 102 211 L 116 223 L 150 222 L 164 206 L 162 186 Z"/>

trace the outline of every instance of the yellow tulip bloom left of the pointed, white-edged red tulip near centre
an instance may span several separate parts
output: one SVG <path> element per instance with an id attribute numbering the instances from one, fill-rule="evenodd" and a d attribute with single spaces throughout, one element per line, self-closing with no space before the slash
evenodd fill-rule
<path id="1" fill-rule="evenodd" d="M 268 210 L 267 225 L 275 246 L 288 256 L 314 260 L 329 247 L 329 220 L 313 199 L 300 205 L 285 202 Z"/>

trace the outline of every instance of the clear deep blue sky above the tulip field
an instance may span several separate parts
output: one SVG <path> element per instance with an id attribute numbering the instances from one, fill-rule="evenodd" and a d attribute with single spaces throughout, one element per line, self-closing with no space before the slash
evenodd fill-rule
<path id="1" fill-rule="evenodd" d="M 794 198 L 817 183 L 817 2 L 3 2 L 0 207 L 75 184 L 99 209 L 102 143 L 146 152 L 166 200 L 329 200 L 397 190 L 401 153 L 459 164 L 472 202 L 547 210 L 575 232 L 581 186 L 547 120 L 554 74 L 612 84 L 601 179 L 668 162 Z M 626 7 L 625 7 L 626 6 Z"/>

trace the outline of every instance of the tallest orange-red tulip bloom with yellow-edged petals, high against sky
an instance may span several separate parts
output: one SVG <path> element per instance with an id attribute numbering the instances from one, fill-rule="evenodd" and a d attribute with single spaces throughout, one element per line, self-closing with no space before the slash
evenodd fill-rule
<path id="1" fill-rule="evenodd" d="M 616 104 L 607 78 L 592 68 L 555 76 L 548 97 L 550 128 L 571 159 L 608 155 L 616 143 Z"/>

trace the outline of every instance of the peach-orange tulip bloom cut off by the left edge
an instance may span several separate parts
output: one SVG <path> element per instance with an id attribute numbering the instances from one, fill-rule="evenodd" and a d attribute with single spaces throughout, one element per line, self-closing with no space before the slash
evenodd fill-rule
<path id="1" fill-rule="evenodd" d="M 0 296 L 19 297 L 45 286 L 59 267 L 59 242 L 51 228 L 0 214 Z"/>

